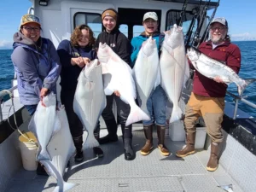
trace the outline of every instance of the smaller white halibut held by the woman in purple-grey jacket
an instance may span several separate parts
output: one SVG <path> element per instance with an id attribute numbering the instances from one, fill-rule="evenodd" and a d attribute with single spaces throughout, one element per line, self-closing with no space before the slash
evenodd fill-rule
<path id="1" fill-rule="evenodd" d="M 56 96 L 51 92 L 38 103 L 37 110 L 28 125 L 28 130 L 38 139 L 37 160 L 51 160 L 47 146 L 51 137 L 60 129 L 61 122 L 56 115 Z"/>

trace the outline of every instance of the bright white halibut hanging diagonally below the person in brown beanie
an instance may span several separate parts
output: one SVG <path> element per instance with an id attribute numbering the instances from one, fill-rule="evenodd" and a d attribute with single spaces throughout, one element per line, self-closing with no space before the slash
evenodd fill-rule
<path id="1" fill-rule="evenodd" d="M 149 120 L 148 115 L 135 102 L 136 85 L 132 78 L 131 67 L 116 55 L 108 44 L 100 43 L 97 55 L 102 62 L 105 94 L 110 96 L 113 91 L 118 90 L 121 100 L 131 107 L 125 125 L 131 125 L 143 119 Z"/>

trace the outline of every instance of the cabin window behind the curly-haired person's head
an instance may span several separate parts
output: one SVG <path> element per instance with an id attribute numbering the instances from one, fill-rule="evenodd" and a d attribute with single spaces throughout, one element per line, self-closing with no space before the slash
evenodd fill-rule
<path id="1" fill-rule="evenodd" d="M 102 15 L 82 12 L 76 13 L 73 22 L 74 28 L 82 24 L 90 26 L 95 38 L 97 38 L 102 32 Z"/>

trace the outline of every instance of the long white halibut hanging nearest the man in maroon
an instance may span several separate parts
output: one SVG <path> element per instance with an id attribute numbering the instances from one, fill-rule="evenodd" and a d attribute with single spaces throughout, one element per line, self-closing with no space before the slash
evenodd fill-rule
<path id="1" fill-rule="evenodd" d="M 183 90 L 183 84 L 189 78 L 189 65 L 185 55 L 183 28 L 176 24 L 171 34 L 166 33 L 160 55 L 161 86 L 173 103 L 170 123 L 182 118 L 182 110 L 178 101 Z"/>

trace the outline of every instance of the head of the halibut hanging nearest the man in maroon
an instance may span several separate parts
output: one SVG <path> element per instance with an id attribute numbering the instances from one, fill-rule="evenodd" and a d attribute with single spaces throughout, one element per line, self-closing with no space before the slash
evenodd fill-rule
<path id="1" fill-rule="evenodd" d="M 183 28 L 181 26 L 173 25 L 172 29 L 166 34 L 165 42 L 172 49 L 176 49 L 178 46 L 184 44 L 183 40 Z"/>

